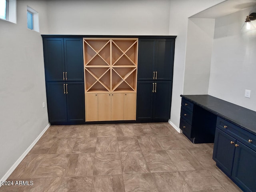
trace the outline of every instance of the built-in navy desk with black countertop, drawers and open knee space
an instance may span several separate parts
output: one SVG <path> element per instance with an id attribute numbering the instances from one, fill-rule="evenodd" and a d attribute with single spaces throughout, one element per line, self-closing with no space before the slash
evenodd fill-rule
<path id="1" fill-rule="evenodd" d="M 256 192 L 256 112 L 210 95 L 181 95 L 180 128 L 214 142 L 213 160 L 243 191 Z"/>

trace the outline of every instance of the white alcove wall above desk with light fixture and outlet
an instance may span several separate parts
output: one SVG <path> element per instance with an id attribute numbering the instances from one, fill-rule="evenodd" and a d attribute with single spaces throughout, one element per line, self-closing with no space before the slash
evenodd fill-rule
<path id="1" fill-rule="evenodd" d="M 256 30 L 240 31 L 251 9 L 215 21 L 209 94 L 256 111 Z M 251 98 L 244 97 L 246 89 Z"/>

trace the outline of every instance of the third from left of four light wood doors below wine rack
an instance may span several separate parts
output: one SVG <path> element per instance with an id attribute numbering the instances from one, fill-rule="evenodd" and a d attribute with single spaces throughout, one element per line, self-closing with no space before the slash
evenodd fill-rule
<path id="1" fill-rule="evenodd" d="M 111 120 L 124 120 L 124 93 L 111 95 Z"/>

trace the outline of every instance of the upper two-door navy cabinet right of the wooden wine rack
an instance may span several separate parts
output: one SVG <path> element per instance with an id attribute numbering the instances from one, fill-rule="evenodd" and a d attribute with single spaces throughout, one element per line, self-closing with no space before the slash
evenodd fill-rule
<path id="1" fill-rule="evenodd" d="M 175 39 L 139 39 L 138 81 L 172 81 Z"/>

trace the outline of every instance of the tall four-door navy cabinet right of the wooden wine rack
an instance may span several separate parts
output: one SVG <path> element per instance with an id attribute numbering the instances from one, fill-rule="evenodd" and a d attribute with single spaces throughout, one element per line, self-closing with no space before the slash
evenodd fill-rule
<path id="1" fill-rule="evenodd" d="M 175 38 L 140 38 L 138 45 L 137 120 L 170 118 Z"/>

